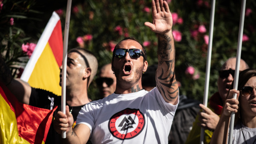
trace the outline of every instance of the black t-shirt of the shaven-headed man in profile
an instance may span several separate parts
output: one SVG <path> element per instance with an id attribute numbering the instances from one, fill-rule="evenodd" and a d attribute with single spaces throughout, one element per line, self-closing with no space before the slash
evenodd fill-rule
<path id="1" fill-rule="evenodd" d="M 42 89 L 35 89 L 34 87 L 31 87 L 31 94 L 30 94 L 30 99 L 29 99 L 29 105 L 34 106 L 34 107 L 39 107 L 39 108 L 45 108 L 45 109 L 50 109 L 51 108 L 51 100 L 50 98 L 54 98 L 54 104 L 53 108 L 55 106 L 58 106 L 58 108 L 54 111 L 53 115 L 57 114 L 58 111 L 61 111 L 61 97 L 58 95 L 53 94 L 52 92 L 42 90 Z M 74 118 L 74 124 L 73 127 L 76 124 L 76 118 L 81 110 L 82 106 L 77 106 L 77 107 L 69 107 L 70 113 L 73 115 Z M 47 134 L 47 138 L 45 141 L 45 144 L 47 143 L 63 143 L 61 142 L 61 135 L 58 134 L 54 128 L 53 128 L 53 123 L 51 123 L 49 132 Z M 91 143 L 90 140 L 87 143 Z"/>

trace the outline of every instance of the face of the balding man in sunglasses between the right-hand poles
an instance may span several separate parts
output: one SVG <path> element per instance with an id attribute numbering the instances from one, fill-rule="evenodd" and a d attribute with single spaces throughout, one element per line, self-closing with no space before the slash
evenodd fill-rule
<path id="1" fill-rule="evenodd" d="M 221 70 L 228 70 L 228 69 L 236 69 L 236 58 L 233 59 L 229 59 L 225 65 L 222 66 Z M 244 61 L 240 62 L 240 71 L 246 69 L 246 65 Z M 234 81 L 234 77 L 229 74 L 229 76 L 227 78 L 218 78 L 218 91 L 220 93 L 220 97 L 222 99 L 222 101 L 224 102 L 226 100 L 227 97 L 227 92 L 230 88 L 230 85 L 232 84 L 232 82 Z"/>

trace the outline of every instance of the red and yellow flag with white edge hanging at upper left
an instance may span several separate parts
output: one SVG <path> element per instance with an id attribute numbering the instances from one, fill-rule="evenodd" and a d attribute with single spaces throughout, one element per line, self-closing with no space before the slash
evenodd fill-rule
<path id="1" fill-rule="evenodd" d="M 31 55 L 21 79 L 30 86 L 61 95 L 60 69 L 62 65 L 63 38 L 59 15 L 53 12 L 36 48 Z"/>

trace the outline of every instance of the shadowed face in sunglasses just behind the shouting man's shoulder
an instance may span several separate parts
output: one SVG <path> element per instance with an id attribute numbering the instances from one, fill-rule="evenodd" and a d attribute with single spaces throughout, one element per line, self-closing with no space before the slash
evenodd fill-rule
<path id="1" fill-rule="evenodd" d="M 105 81 L 102 81 L 102 83 L 99 85 L 100 95 L 103 95 L 103 97 L 108 97 L 108 95 L 114 93 L 116 90 L 116 76 L 113 74 L 111 64 L 101 69 L 100 78 L 105 78 Z M 113 79 L 113 81 L 111 81 L 113 82 L 111 85 L 106 82 L 110 78 Z"/>

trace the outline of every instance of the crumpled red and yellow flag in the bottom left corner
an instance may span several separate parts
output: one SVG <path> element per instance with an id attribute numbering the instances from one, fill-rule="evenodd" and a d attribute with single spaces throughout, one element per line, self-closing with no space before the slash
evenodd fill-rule
<path id="1" fill-rule="evenodd" d="M 20 103 L 0 83 L 0 143 L 45 143 L 55 109 Z"/>

